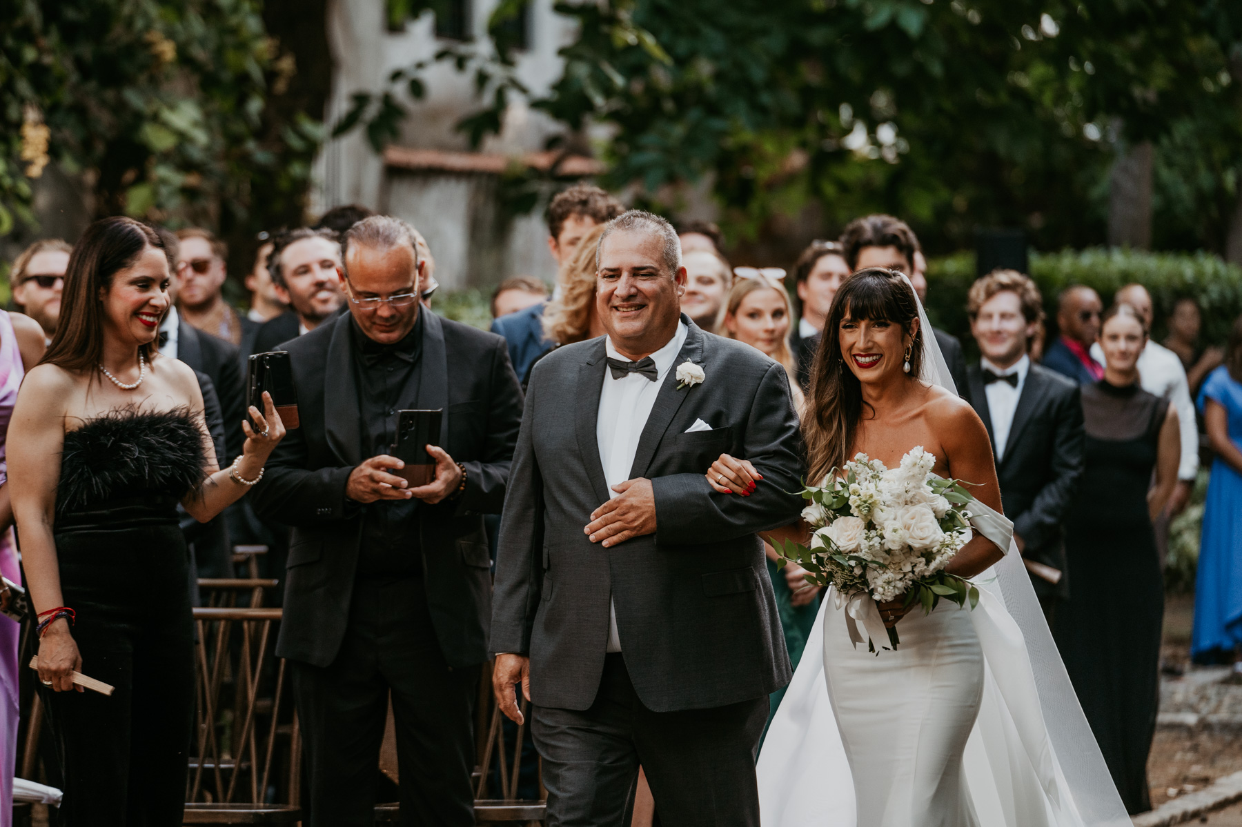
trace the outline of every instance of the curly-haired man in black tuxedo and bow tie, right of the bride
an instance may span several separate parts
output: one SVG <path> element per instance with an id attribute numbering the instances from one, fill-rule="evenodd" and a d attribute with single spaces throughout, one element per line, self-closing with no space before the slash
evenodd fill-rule
<path id="1" fill-rule="evenodd" d="M 1061 518 L 1083 469 L 1078 385 L 1027 355 L 1043 318 L 1030 278 L 992 271 L 971 286 L 966 309 L 982 353 L 966 370 L 970 400 L 991 437 L 1005 515 L 1051 625 L 1069 596 Z"/>

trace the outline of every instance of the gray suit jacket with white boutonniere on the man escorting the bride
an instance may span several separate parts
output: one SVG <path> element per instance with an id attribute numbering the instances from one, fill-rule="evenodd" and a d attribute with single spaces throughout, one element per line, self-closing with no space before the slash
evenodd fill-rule
<path id="1" fill-rule="evenodd" d="M 797 518 L 802 446 L 785 369 L 758 350 L 689 335 L 660 389 L 631 478 L 652 481 L 656 534 L 605 549 L 587 540 L 609 499 L 595 438 L 604 339 L 559 348 L 532 371 L 501 522 L 493 652 L 530 657 L 540 707 L 595 699 L 616 603 L 626 668 L 655 712 L 703 709 L 789 683 L 789 656 L 756 531 Z M 677 389 L 676 365 L 707 374 Z M 710 431 L 687 433 L 694 420 Z M 764 479 L 750 497 L 718 494 L 704 473 L 722 452 Z"/>

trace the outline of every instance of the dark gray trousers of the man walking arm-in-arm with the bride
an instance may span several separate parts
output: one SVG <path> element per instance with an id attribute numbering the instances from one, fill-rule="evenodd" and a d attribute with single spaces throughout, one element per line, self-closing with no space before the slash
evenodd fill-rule
<path id="1" fill-rule="evenodd" d="M 758 827 L 755 752 L 768 697 L 655 713 L 621 654 L 609 654 L 585 712 L 537 707 L 532 721 L 548 787 L 548 827 L 622 827 L 642 765 L 663 825 Z"/>

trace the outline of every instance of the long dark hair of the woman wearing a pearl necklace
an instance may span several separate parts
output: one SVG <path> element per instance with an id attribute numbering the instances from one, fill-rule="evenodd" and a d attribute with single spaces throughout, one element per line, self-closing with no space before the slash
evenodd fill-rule
<path id="1" fill-rule="evenodd" d="M 113 216 L 96 221 L 70 253 L 61 298 L 61 320 L 52 344 L 39 364 L 65 370 L 93 370 L 103 358 L 103 303 L 99 294 L 112 287 L 117 272 L 132 267 L 148 247 L 168 255 L 163 240 L 145 224 Z M 150 361 L 155 343 L 140 345 Z"/>

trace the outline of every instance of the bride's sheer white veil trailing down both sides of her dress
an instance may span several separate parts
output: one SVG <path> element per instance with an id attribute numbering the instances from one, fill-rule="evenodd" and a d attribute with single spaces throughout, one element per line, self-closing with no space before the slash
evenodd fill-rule
<path id="1" fill-rule="evenodd" d="M 920 379 L 956 392 L 922 302 L 919 324 Z M 994 534 L 992 525 L 976 529 Z M 1012 539 L 1005 545 L 1009 553 L 1001 561 L 974 579 L 982 599 L 970 615 L 984 652 L 985 682 L 964 764 L 975 812 L 989 827 L 1129 827 L 1021 554 Z M 823 676 L 828 605 L 825 596 L 759 755 L 764 827 L 856 825 L 850 764 Z"/>

